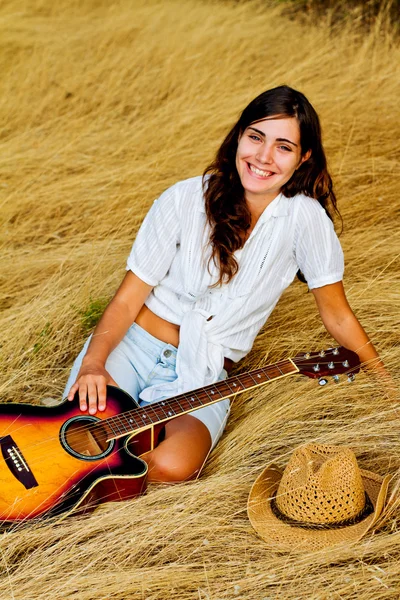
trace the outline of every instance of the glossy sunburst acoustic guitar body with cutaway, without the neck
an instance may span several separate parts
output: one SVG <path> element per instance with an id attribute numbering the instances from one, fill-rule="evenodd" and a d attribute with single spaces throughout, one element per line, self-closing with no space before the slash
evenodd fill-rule
<path id="1" fill-rule="evenodd" d="M 4 525 L 87 509 L 142 494 L 147 464 L 163 424 L 108 439 L 102 421 L 134 400 L 109 386 L 107 409 L 84 414 L 77 400 L 54 407 L 3 404 L 0 415 L 0 519 Z M 100 415 L 100 416 L 99 416 Z"/>

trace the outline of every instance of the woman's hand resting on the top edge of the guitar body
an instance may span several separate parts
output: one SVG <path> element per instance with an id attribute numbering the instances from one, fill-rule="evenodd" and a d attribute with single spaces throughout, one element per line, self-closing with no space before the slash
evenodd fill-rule
<path id="1" fill-rule="evenodd" d="M 89 413 L 94 415 L 97 410 L 106 408 L 107 385 L 118 387 L 103 364 L 94 362 L 83 364 L 67 398 L 73 400 L 76 392 L 79 391 L 80 409 L 86 411 L 89 404 Z"/>

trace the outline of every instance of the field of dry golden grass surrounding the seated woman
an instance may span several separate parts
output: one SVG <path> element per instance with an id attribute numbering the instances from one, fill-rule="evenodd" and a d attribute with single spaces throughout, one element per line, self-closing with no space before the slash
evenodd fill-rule
<path id="1" fill-rule="evenodd" d="M 146 210 L 201 174 L 244 106 L 287 83 L 320 114 L 344 219 L 349 301 L 398 385 L 398 40 L 381 13 L 289 17 L 233 0 L 5 0 L 0 7 L 1 399 L 61 398 Z M 396 160 L 397 159 L 397 160 Z M 238 371 L 332 345 L 296 281 Z M 201 478 L 0 538 L 1 600 L 400 598 L 399 419 L 360 374 L 286 378 L 238 397 Z M 305 442 L 393 475 L 375 534 L 266 548 L 250 487 Z"/>

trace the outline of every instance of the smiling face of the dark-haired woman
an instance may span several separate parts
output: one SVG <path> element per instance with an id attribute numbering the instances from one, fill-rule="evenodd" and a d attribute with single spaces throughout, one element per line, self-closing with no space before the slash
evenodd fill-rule
<path id="1" fill-rule="evenodd" d="M 267 206 L 309 156 L 310 152 L 301 156 L 295 117 L 272 117 L 249 125 L 236 152 L 236 168 L 246 200 Z"/>

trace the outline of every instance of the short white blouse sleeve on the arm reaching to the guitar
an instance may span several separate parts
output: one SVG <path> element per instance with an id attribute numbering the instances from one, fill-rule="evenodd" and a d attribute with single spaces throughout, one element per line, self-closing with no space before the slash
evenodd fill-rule
<path id="1" fill-rule="evenodd" d="M 180 242 L 176 187 L 155 200 L 147 213 L 128 257 L 126 270 L 156 286 L 168 273 Z"/>

